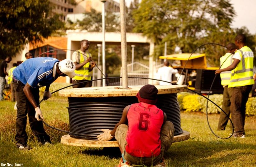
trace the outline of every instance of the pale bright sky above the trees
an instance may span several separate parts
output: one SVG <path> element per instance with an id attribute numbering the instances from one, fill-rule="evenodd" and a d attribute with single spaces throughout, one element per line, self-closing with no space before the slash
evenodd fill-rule
<path id="1" fill-rule="evenodd" d="M 114 0 L 120 2 L 120 0 Z M 129 7 L 133 0 L 125 0 Z M 232 28 L 247 27 L 251 34 L 256 34 L 256 0 L 231 0 L 236 16 L 232 22 Z"/>

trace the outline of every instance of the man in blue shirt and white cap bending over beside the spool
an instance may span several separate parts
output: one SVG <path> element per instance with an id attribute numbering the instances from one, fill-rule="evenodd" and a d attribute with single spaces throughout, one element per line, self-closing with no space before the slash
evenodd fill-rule
<path id="1" fill-rule="evenodd" d="M 30 150 L 27 145 L 26 122 L 29 117 L 30 128 L 39 142 L 51 143 L 50 137 L 43 128 L 42 112 L 39 108 L 39 87 L 45 86 L 43 99 L 51 97 L 50 84 L 59 76 L 75 76 L 75 64 L 70 59 L 61 62 L 50 57 L 27 59 L 13 70 L 13 87 L 17 100 L 16 146 L 22 150 Z"/>

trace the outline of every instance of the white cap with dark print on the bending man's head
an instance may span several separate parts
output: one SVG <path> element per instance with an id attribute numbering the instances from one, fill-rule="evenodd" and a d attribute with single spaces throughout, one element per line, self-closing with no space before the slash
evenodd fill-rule
<path id="1" fill-rule="evenodd" d="M 75 77 L 75 64 L 71 59 L 64 59 L 59 62 L 59 69 L 70 78 Z"/>

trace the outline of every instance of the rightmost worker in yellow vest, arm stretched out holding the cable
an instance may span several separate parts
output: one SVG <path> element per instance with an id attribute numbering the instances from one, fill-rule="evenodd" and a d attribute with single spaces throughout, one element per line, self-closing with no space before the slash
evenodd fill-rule
<path id="1" fill-rule="evenodd" d="M 232 91 L 230 111 L 231 120 L 235 127 L 233 137 L 236 138 L 245 138 L 245 105 L 254 84 L 254 54 L 245 43 L 245 35 L 238 34 L 235 37 L 235 45 L 239 48 L 239 50 L 235 51 L 233 63 L 226 68 L 215 71 L 215 73 L 218 74 L 223 71 L 232 70 L 228 87 Z"/>

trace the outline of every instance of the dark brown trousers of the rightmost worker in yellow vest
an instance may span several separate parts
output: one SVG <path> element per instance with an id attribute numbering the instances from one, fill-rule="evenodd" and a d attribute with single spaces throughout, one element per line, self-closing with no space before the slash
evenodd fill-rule
<path id="1" fill-rule="evenodd" d="M 245 134 L 245 105 L 252 90 L 252 85 L 233 87 L 231 97 L 231 120 L 235 127 L 235 133 Z"/>

